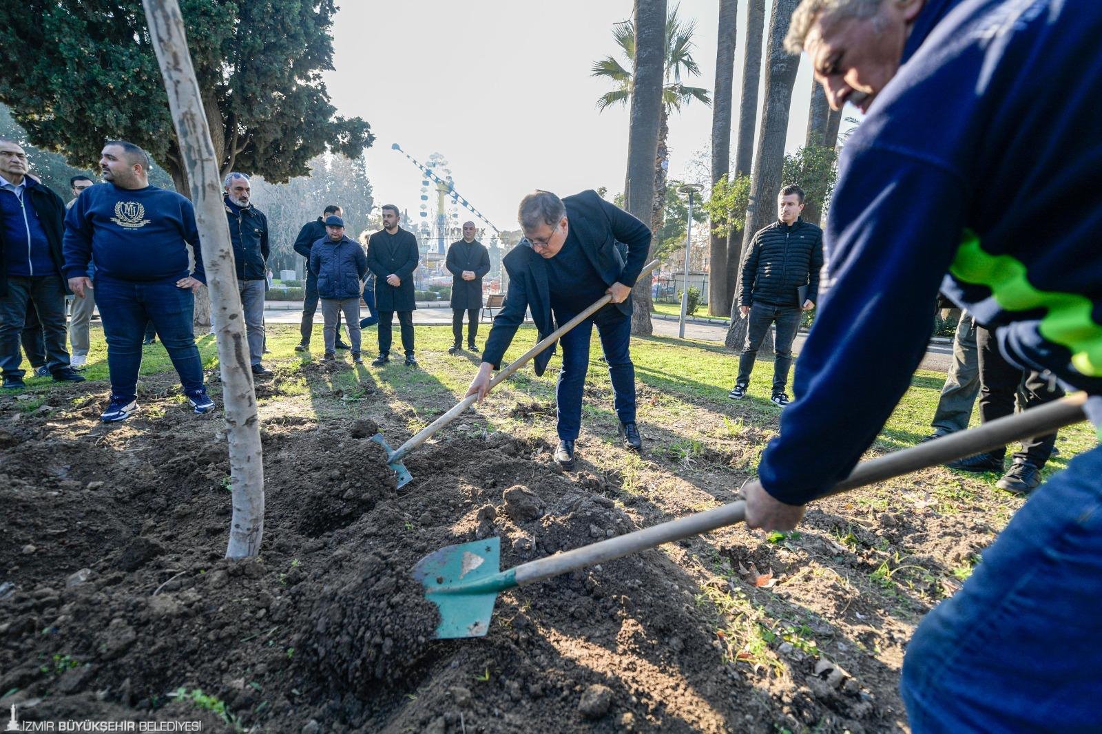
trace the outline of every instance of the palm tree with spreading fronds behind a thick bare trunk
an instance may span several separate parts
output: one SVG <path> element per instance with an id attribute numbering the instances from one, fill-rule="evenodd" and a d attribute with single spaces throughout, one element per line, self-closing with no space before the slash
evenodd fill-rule
<path id="1" fill-rule="evenodd" d="M 655 198 L 651 208 L 650 226 L 657 230 L 662 225 L 662 209 L 666 203 L 666 160 L 669 151 L 666 138 L 669 133 L 669 115 L 679 111 L 682 105 L 699 99 L 705 105 L 711 104 L 707 89 L 690 87 L 681 82 L 682 76 L 699 76 L 700 66 L 692 57 L 692 36 L 696 31 L 694 21 L 682 21 L 678 18 L 678 7 L 674 6 L 666 17 L 665 46 L 665 84 L 662 86 L 662 107 L 658 127 L 658 158 L 655 161 Z M 613 40 L 619 46 L 624 56 L 635 63 L 635 22 L 624 21 L 613 25 Z M 604 111 L 613 105 L 626 105 L 631 98 L 635 78 L 630 71 L 613 56 L 596 62 L 593 65 L 593 76 L 604 76 L 613 80 L 616 88 L 597 99 L 597 109 Z"/>

